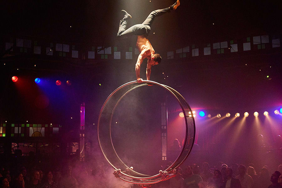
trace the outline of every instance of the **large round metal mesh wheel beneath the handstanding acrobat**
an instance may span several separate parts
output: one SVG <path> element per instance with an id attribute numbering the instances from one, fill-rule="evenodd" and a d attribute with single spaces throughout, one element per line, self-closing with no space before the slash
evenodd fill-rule
<path id="1" fill-rule="evenodd" d="M 155 85 L 162 88 L 165 88 L 167 91 L 173 95 L 176 100 L 179 102 L 179 105 L 184 113 L 185 117 L 185 125 L 186 125 L 186 134 L 185 134 L 185 142 L 184 147 L 170 167 L 168 167 L 165 171 L 160 170 L 159 174 L 150 176 L 138 173 L 133 170 L 133 167 L 128 167 L 123 163 L 123 161 L 119 158 L 117 152 L 114 149 L 112 144 L 111 137 L 111 123 L 112 117 L 115 111 L 115 108 L 118 106 L 118 103 L 121 99 L 128 94 L 133 89 L 138 87 L 147 86 L 147 85 Z M 189 114 L 190 112 L 190 114 Z M 185 99 L 173 88 L 169 86 L 165 86 L 163 84 L 159 84 L 154 81 L 143 81 L 142 83 L 138 83 L 137 81 L 128 82 L 120 87 L 118 87 L 112 94 L 107 98 L 104 102 L 102 109 L 100 111 L 99 120 L 98 120 L 98 142 L 100 148 L 107 159 L 107 161 L 112 165 L 115 169 L 113 174 L 129 183 L 138 184 L 142 187 L 148 187 L 151 184 L 158 183 L 163 180 L 168 180 L 171 177 L 174 177 L 177 173 L 177 168 L 184 162 L 184 160 L 188 157 L 191 152 L 192 146 L 195 140 L 195 120 L 194 117 L 191 116 L 192 110 Z"/>

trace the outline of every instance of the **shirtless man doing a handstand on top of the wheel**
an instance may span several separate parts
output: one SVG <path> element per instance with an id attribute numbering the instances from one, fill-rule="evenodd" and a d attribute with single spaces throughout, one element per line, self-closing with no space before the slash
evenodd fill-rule
<path id="1" fill-rule="evenodd" d="M 147 80 L 150 80 L 151 75 L 151 67 L 154 65 L 158 65 L 162 57 L 159 54 L 155 54 L 155 50 L 152 47 L 150 41 L 147 39 L 147 36 L 151 30 L 151 24 L 154 21 L 154 18 L 156 16 L 161 16 L 166 12 L 170 12 L 170 10 L 175 10 L 180 5 L 180 1 L 177 0 L 173 5 L 171 5 L 168 8 L 159 9 L 151 12 L 149 16 L 145 19 L 145 21 L 142 24 L 136 24 L 132 27 L 126 29 L 128 18 L 131 18 L 131 15 L 128 14 L 125 10 L 122 10 L 122 12 L 125 13 L 122 20 L 120 20 L 119 23 L 119 29 L 118 29 L 118 37 L 128 37 L 131 35 L 138 35 L 136 46 L 140 52 L 137 63 L 135 65 L 135 72 L 136 72 L 136 78 L 139 83 L 143 81 L 142 78 L 140 78 L 140 65 L 143 62 L 145 58 L 148 59 L 147 61 L 147 69 L 146 69 L 146 77 Z"/>

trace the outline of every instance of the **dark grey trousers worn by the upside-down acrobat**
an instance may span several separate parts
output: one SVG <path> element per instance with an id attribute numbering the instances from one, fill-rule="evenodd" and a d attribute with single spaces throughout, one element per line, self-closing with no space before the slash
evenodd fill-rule
<path id="1" fill-rule="evenodd" d="M 151 30 L 151 24 L 156 16 L 170 12 L 170 8 L 159 9 L 151 12 L 142 24 L 136 24 L 126 29 L 127 19 L 120 20 L 117 37 L 127 38 L 132 35 L 148 35 Z"/>

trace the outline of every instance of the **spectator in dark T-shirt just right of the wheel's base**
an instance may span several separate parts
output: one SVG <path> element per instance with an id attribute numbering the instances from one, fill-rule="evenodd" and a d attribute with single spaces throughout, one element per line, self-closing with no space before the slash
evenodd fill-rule
<path id="1" fill-rule="evenodd" d="M 192 168 L 187 166 L 186 178 L 184 179 L 185 188 L 202 188 L 203 180 L 200 175 L 193 174 Z"/>

